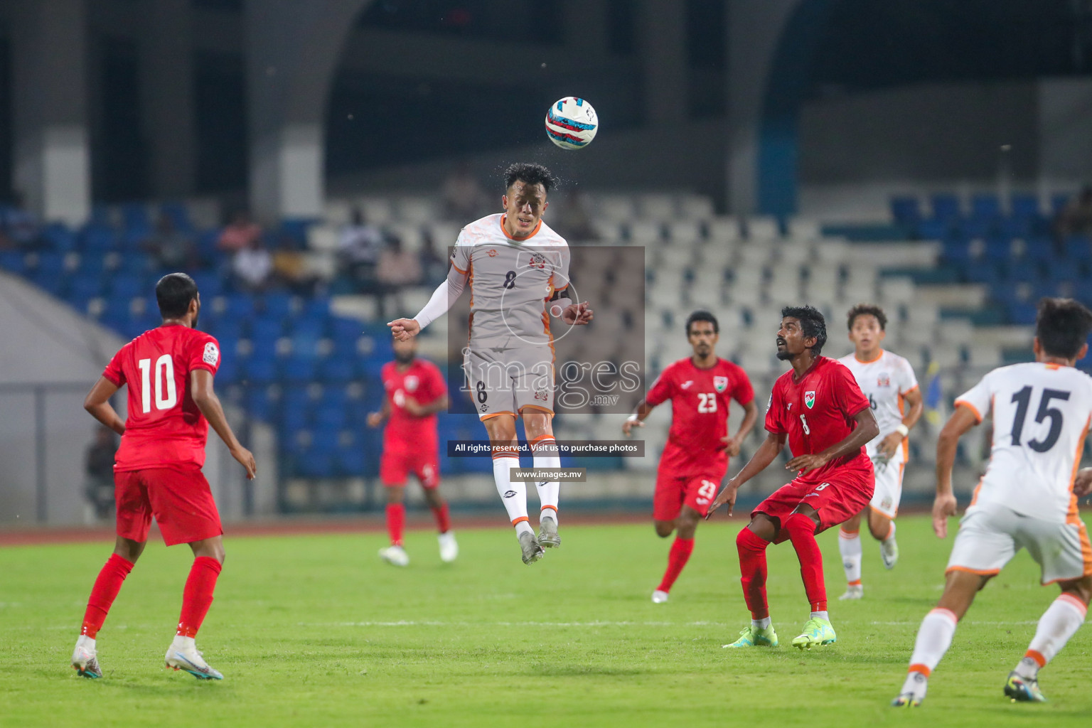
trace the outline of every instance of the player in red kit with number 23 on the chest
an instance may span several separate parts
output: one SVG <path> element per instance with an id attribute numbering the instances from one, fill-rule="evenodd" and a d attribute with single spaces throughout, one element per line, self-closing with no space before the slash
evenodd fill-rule
<path id="1" fill-rule="evenodd" d="M 728 469 L 728 457 L 739 454 L 744 439 L 755 427 L 758 407 L 750 380 L 737 365 L 716 356 L 720 337 L 716 317 L 695 311 L 686 320 L 686 334 L 693 354 L 668 365 L 649 394 L 622 422 L 628 438 L 634 427 L 657 405 L 672 401 L 672 429 L 656 469 L 656 494 L 652 518 L 656 535 L 675 533 L 667 557 L 667 571 L 652 593 L 652 601 L 667 601 L 668 593 L 693 551 L 698 522 Z M 744 421 L 728 437 L 728 405 L 732 399 L 744 408 Z"/>

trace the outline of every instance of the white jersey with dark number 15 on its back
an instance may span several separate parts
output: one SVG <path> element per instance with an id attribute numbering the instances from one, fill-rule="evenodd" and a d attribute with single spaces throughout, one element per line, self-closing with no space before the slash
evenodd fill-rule
<path id="1" fill-rule="evenodd" d="M 972 505 L 1063 523 L 1076 517 L 1073 477 L 1092 417 L 1092 378 L 1053 363 L 1012 365 L 986 374 L 956 404 L 980 422 L 994 415 L 989 465 Z"/>

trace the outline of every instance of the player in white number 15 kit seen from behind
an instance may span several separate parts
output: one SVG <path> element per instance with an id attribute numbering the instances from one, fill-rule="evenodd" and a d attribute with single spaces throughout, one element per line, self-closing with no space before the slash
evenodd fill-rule
<path id="1" fill-rule="evenodd" d="M 1071 299 L 1040 301 L 1035 361 L 1001 367 L 956 399 L 937 442 L 933 528 L 943 538 L 956 513 L 951 469 L 960 437 L 993 414 L 989 465 L 962 521 L 948 560 L 945 593 L 917 632 L 910 671 L 892 705 L 914 706 L 951 645 L 956 623 L 974 595 L 1022 548 L 1042 570 L 1041 583 L 1061 595 L 1038 620 L 1005 694 L 1042 702 L 1038 670 L 1084 622 L 1092 597 L 1092 545 L 1077 500 L 1092 491 L 1092 468 L 1078 472 L 1092 421 L 1092 378 L 1073 368 L 1088 353 L 1092 312 Z M 1001 635 L 1004 639 L 1004 635 Z"/>

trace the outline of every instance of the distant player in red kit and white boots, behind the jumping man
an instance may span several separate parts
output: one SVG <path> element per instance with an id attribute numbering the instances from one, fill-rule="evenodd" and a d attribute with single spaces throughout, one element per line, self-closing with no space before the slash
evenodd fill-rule
<path id="1" fill-rule="evenodd" d="M 391 545 L 379 551 L 380 558 L 395 566 L 410 564 L 402 546 L 405 527 L 405 484 L 413 473 L 425 489 L 425 500 L 432 509 L 440 529 L 440 560 L 454 561 L 459 544 L 451 530 L 448 504 L 440 497 L 440 443 L 436 433 L 436 414 L 448 408 L 448 386 L 440 368 L 417 358 L 417 339 L 394 342 L 394 361 L 383 365 L 382 409 L 368 415 L 368 427 L 383 429 L 383 456 L 379 479 L 387 491 L 387 533 Z"/>

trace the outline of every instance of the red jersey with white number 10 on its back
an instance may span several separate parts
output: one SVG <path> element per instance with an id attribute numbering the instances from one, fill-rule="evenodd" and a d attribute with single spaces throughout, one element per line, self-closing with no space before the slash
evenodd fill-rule
<path id="1" fill-rule="evenodd" d="M 190 372 L 219 367 L 219 344 L 182 325 L 146 331 L 114 355 L 103 377 L 129 385 L 126 433 L 115 470 L 204 465 L 209 421 L 190 396 Z"/>

